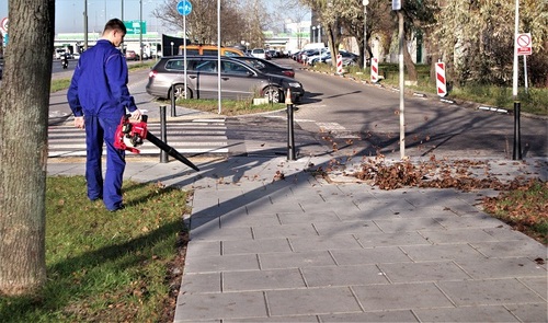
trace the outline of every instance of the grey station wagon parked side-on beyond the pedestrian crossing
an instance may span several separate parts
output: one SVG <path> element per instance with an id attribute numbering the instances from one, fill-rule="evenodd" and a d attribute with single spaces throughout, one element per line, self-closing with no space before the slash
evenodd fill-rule
<path id="1" fill-rule="evenodd" d="M 187 56 L 185 82 L 184 58 L 163 57 L 149 73 L 147 93 L 171 99 L 172 95 L 183 96 L 186 91 L 187 99 L 217 99 L 217 57 Z M 305 94 L 302 84 L 295 79 L 263 73 L 237 58 L 221 56 L 220 66 L 221 99 L 255 97 L 259 94 L 278 103 L 285 100 L 288 89 L 295 102 Z"/>

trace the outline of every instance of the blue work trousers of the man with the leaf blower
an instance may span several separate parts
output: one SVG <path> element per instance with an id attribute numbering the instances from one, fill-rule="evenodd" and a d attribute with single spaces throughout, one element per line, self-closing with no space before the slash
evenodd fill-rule
<path id="1" fill-rule="evenodd" d="M 126 168 L 125 151 L 114 147 L 114 134 L 118 120 L 85 116 L 85 180 L 88 182 L 88 198 L 103 198 L 109 210 L 122 206 L 122 182 Z M 103 182 L 101 157 L 103 142 L 106 143 L 106 172 Z"/>

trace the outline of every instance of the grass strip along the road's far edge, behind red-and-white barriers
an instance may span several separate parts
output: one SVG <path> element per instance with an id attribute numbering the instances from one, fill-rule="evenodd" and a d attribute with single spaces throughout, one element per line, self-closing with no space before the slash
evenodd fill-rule
<path id="1" fill-rule="evenodd" d="M 424 93 L 436 94 L 435 84 L 430 82 L 430 66 L 416 65 L 418 82 L 416 85 L 406 85 L 407 89 L 420 91 Z M 334 72 L 331 65 L 319 64 L 315 66 L 316 70 Z M 370 80 L 370 69 L 364 72 L 359 67 L 345 68 L 346 77 L 353 77 L 358 80 Z M 395 64 L 380 64 L 379 77 L 381 84 L 392 86 L 399 85 L 399 67 Z M 406 77 L 407 79 L 407 77 Z M 512 111 L 514 108 L 514 99 L 512 96 L 512 88 L 502 88 L 484 84 L 468 84 L 464 88 L 455 86 L 452 89 L 446 99 L 463 100 L 476 102 L 489 106 L 501 107 Z M 521 101 L 522 112 L 535 115 L 548 115 L 548 89 L 530 88 L 528 93 L 525 89 L 520 88 L 518 99 Z"/>

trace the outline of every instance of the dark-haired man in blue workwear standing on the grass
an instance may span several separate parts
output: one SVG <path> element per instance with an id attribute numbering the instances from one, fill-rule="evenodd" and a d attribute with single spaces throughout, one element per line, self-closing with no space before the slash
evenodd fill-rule
<path id="1" fill-rule="evenodd" d="M 96 45 L 81 55 L 67 93 L 75 126 L 85 129 L 88 198 L 102 198 L 111 211 L 124 208 L 122 182 L 126 166 L 125 151 L 114 147 L 114 134 L 126 109 L 132 118 L 140 118 L 140 111 L 127 89 L 126 59 L 116 48 L 125 35 L 124 23 L 118 19 L 110 20 Z M 103 143 L 106 143 L 104 181 Z"/>

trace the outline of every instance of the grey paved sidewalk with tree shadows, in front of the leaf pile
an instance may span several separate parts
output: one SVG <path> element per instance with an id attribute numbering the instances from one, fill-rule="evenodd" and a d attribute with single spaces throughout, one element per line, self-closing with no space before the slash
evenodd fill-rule
<path id="1" fill-rule="evenodd" d="M 174 322 L 548 320 L 547 249 L 481 211 L 498 192 L 381 191 L 336 171 L 328 182 L 311 171 L 329 157 L 195 162 L 199 173 L 129 159 L 125 173 L 194 189 Z M 48 173 L 83 168 L 52 161 Z M 546 181 L 546 160 L 490 170 Z"/>

